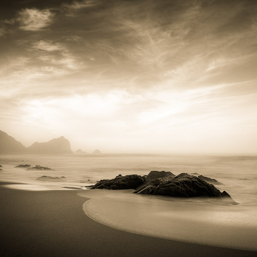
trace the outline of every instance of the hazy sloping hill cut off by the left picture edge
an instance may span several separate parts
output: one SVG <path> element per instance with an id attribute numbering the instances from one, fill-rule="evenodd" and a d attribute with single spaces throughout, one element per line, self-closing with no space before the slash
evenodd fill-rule
<path id="1" fill-rule="evenodd" d="M 27 149 L 22 143 L 0 131 L 0 154 L 22 154 L 26 151 Z"/>

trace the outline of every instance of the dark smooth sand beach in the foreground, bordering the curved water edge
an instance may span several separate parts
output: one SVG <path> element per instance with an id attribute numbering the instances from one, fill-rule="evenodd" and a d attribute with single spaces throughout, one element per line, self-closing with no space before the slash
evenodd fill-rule
<path id="1" fill-rule="evenodd" d="M 257 256 L 257 252 L 164 240 L 87 217 L 77 190 L 27 191 L 0 183 L 1 256 Z"/>

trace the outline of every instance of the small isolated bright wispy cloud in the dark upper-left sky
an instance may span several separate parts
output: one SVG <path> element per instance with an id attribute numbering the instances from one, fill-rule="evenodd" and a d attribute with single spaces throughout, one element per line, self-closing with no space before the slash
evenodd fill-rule
<path id="1" fill-rule="evenodd" d="M 16 18 L 22 30 L 37 31 L 52 23 L 54 14 L 49 9 L 23 9 Z"/>

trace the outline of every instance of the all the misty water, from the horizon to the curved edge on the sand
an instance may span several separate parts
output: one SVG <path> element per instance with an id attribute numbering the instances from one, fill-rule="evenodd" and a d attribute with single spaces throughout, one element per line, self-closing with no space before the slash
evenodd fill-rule
<path id="1" fill-rule="evenodd" d="M 125 191 L 78 192 L 92 198 L 84 205 L 86 214 L 107 226 L 180 241 L 257 250 L 256 156 L 2 155 L 0 164 L 0 180 L 22 183 L 9 187 L 26 190 L 81 189 L 118 174 L 145 175 L 151 170 L 175 175 L 196 172 L 215 178 L 223 183 L 216 187 L 226 190 L 238 205 Z M 53 170 L 14 168 L 19 164 L 39 164 Z M 65 176 L 66 181 L 35 180 L 41 176 Z"/>

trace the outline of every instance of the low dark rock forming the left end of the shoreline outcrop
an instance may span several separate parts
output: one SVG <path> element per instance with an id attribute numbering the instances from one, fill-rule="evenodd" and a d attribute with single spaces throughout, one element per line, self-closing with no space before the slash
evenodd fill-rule
<path id="1" fill-rule="evenodd" d="M 114 179 L 102 179 L 92 189 L 136 189 L 145 182 L 139 175 L 118 176 Z"/>

